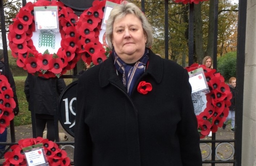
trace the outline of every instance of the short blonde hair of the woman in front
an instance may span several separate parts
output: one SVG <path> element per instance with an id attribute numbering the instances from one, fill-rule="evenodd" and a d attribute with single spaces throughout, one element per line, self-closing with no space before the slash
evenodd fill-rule
<path id="1" fill-rule="evenodd" d="M 113 24 L 115 20 L 124 18 L 126 14 L 134 14 L 140 19 L 144 33 L 147 36 L 146 47 L 150 48 L 153 44 L 153 33 L 152 33 L 152 27 L 147 21 L 145 14 L 142 13 L 142 11 L 135 4 L 127 1 L 122 1 L 121 4 L 114 6 L 107 20 L 106 39 L 109 45 L 109 49 L 113 49 L 113 44 L 112 44 Z"/>

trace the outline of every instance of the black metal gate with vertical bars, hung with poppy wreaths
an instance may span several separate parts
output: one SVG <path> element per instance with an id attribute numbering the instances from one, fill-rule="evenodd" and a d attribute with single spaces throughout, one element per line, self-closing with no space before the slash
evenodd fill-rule
<path id="1" fill-rule="evenodd" d="M 213 65 L 214 68 L 217 67 L 217 32 L 218 32 L 218 0 L 211 0 L 214 1 L 214 52 L 213 52 Z M 26 0 L 22 0 L 23 6 L 26 4 Z M 168 0 L 164 0 L 164 6 L 165 6 L 165 58 L 168 59 Z M 245 34 L 246 34 L 246 7 L 247 7 L 247 0 L 239 0 L 239 13 L 238 13 L 238 34 L 237 34 L 237 86 L 236 86 L 236 112 L 235 112 L 235 125 L 236 125 L 236 132 L 235 137 L 233 140 L 216 140 L 215 133 L 213 133 L 211 140 L 201 140 L 201 144 L 211 144 L 210 146 L 210 160 L 204 160 L 204 164 L 211 164 L 212 166 L 215 166 L 215 164 L 219 163 L 233 163 L 234 166 L 241 166 L 242 162 L 242 114 L 243 114 L 243 87 L 244 87 L 244 67 L 245 67 Z M 141 0 L 141 8 L 142 11 L 145 11 L 145 0 Z M 194 5 L 189 5 L 189 41 L 188 41 L 188 47 L 189 47 L 189 65 L 193 64 L 193 55 L 194 55 L 194 48 L 193 48 L 193 41 L 194 41 L 194 27 L 193 27 L 193 12 L 194 12 Z M 79 13 L 79 11 L 78 11 Z M 4 50 L 4 57 L 6 64 L 6 72 L 9 71 L 9 65 L 8 65 L 8 56 L 7 56 L 7 42 L 6 42 L 6 30 L 5 30 L 5 16 L 4 16 L 4 10 L 3 10 L 3 0 L 0 2 L 0 20 L 1 20 L 1 30 L 2 30 L 2 44 L 3 44 L 3 50 Z M 77 76 L 77 69 L 74 69 L 73 75 L 63 75 L 61 78 L 78 78 Z M 32 124 L 35 126 L 35 121 L 33 120 L 32 115 Z M 58 121 L 57 115 L 55 115 L 56 124 Z M 58 127 L 55 128 L 56 131 L 58 131 Z M 35 137 L 35 128 L 33 127 L 33 137 Z M 10 132 L 11 132 L 11 143 L 1 143 L 9 146 L 7 150 L 10 148 L 11 145 L 16 144 L 15 140 L 15 132 L 14 132 L 14 122 L 12 121 L 10 124 Z M 74 142 L 58 142 L 58 134 L 56 134 L 56 140 L 58 144 L 71 144 L 73 145 Z M 215 159 L 215 153 L 216 149 L 221 144 L 231 144 L 233 147 L 233 159 L 227 159 L 222 160 L 218 158 L 219 160 Z M 234 144 L 234 146 L 233 146 Z M 3 155 L 0 154 L 2 157 Z M 2 165 L 2 163 L 0 163 Z"/>

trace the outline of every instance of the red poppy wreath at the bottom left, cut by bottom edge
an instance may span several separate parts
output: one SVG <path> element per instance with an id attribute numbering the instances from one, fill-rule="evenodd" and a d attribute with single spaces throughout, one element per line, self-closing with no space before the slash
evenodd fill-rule
<path id="1" fill-rule="evenodd" d="M 42 137 L 26 138 L 18 141 L 18 144 L 11 146 L 11 152 L 6 152 L 4 155 L 4 165 L 9 166 L 27 166 L 26 158 L 22 148 L 35 144 L 43 144 L 43 148 L 50 166 L 70 166 L 70 159 L 67 152 L 60 149 L 59 146 L 48 139 Z"/>

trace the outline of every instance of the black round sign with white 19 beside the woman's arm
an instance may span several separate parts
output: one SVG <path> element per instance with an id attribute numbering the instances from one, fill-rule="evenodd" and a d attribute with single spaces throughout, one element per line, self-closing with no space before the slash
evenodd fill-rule
<path id="1" fill-rule="evenodd" d="M 58 102 L 58 117 L 64 130 L 75 136 L 75 119 L 76 119 L 76 87 L 77 81 L 73 81 L 61 93 Z"/>

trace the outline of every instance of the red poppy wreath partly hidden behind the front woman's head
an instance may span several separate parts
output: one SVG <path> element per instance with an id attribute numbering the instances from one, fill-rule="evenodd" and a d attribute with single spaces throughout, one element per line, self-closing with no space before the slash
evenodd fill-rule
<path id="1" fill-rule="evenodd" d="M 121 3 L 121 0 L 110 0 Z M 82 60 L 88 65 L 98 65 L 105 61 L 111 50 L 99 41 L 102 18 L 104 15 L 106 0 L 93 1 L 92 7 L 85 10 L 79 17 L 76 25 L 79 40 L 77 53 L 81 54 Z"/>

